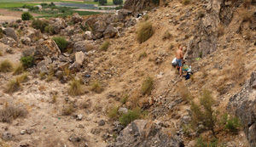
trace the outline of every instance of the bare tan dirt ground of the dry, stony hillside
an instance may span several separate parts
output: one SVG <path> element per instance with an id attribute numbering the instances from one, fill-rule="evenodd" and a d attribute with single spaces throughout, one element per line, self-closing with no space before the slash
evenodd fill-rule
<path id="1" fill-rule="evenodd" d="M 201 4 L 183 6 L 182 3 L 173 1 L 169 3 L 168 7 L 161 7 L 154 12 L 149 12 L 149 21 L 153 22 L 155 33 L 153 37 L 142 44 L 138 43 L 136 39 L 137 25 L 127 29 L 125 37 L 111 39 L 111 46 L 108 51 L 96 53 L 94 61 L 96 72 L 102 72 L 111 67 L 119 71 L 119 74 L 104 81 L 107 86 L 103 93 L 89 92 L 83 96 L 72 98 L 67 96 L 67 84 L 62 85 L 56 79 L 54 82 L 44 82 L 31 75 L 31 80 L 22 85 L 22 91 L 8 95 L 3 93 L 3 88 L 13 76 L 1 73 L 1 106 L 6 102 L 12 103 L 13 101 L 13 103 L 26 105 L 26 109 L 29 110 L 26 118 L 17 119 L 10 125 L 0 123 L 3 130 L 7 129 L 5 131 L 15 135 L 15 140 L 7 144 L 17 146 L 28 143 L 34 146 L 49 146 L 49 144 L 58 143 L 75 146 L 68 141 L 70 135 L 74 133 L 81 135 L 84 142 L 90 146 L 105 146 L 107 143 L 102 139 L 102 135 L 111 133 L 110 125 L 112 124 L 111 121 L 108 121 L 108 107 L 120 105 L 117 99 L 108 96 L 109 93 L 120 93 L 120 95 L 128 93 L 130 98 L 140 98 L 141 95 L 137 91 L 141 88 L 145 76 L 154 77 L 153 93 L 145 97 L 146 99 L 153 98 L 156 101 L 148 109 L 149 114 L 152 115 L 149 118 L 154 119 L 155 116 L 157 120 L 166 122 L 173 129 L 179 130 L 180 119 L 188 114 L 189 105 L 185 102 L 175 105 L 172 110 L 167 109 L 168 104 L 172 101 L 181 99 L 178 91 L 181 85 L 188 88 L 195 97 L 199 95 L 201 88 L 210 89 L 214 98 L 218 100 L 216 108 L 225 110 L 230 96 L 241 89 L 242 83 L 255 70 L 256 51 L 255 46 L 253 46 L 255 31 L 251 31 L 250 40 L 246 40 L 243 33 L 236 33 L 240 26 L 241 17 L 239 14 L 242 10 L 242 8 L 236 8 L 229 27 L 224 27 L 224 35 L 218 37 L 217 50 L 199 61 L 188 63 L 195 69 L 194 81 L 179 82 L 175 69 L 171 67 L 171 61 L 177 45 L 186 46 L 193 37 L 192 31 L 195 31 L 195 25 L 199 21 L 195 18 L 201 10 L 205 10 Z M 188 12 L 190 16 L 186 17 L 185 20 L 181 19 Z M 244 26 L 245 29 L 246 25 Z M 162 37 L 166 31 L 169 31 L 173 37 L 164 41 Z M 186 35 L 188 37 L 185 37 Z M 226 37 L 230 35 L 232 36 L 230 42 L 226 42 Z M 169 49 L 171 44 L 174 48 Z M 4 51 L 5 48 L 7 47 L 3 45 L 1 50 Z M 138 56 L 144 52 L 148 54 L 147 57 L 138 60 Z M 18 49 L 15 55 L 19 53 Z M 238 81 L 232 78 L 234 76 L 233 71 L 238 70 L 237 66 L 234 65 L 237 53 L 244 57 L 242 59 L 246 67 L 246 71 L 242 76 L 239 76 Z M 11 56 L 15 55 L 4 54 L 0 59 L 12 59 L 14 57 Z M 157 62 L 156 64 L 157 59 L 161 63 Z M 157 78 L 160 72 L 163 75 Z M 218 90 L 221 86 L 225 88 L 224 94 L 220 94 Z M 40 91 L 40 87 L 46 89 Z M 53 93 L 58 93 L 56 104 L 50 103 Z M 70 100 L 66 101 L 66 98 Z M 91 101 L 90 108 L 87 110 L 80 109 L 79 104 L 89 99 Z M 166 99 L 167 105 L 162 101 L 163 99 Z M 62 105 L 67 105 L 73 101 L 76 101 L 75 104 L 78 105 L 79 109 L 73 116 L 61 116 Z M 157 115 L 154 115 L 153 112 Z M 84 116 L 80 122 L 75 120 L 75 115 L 78 114 Z M 103 127 L 99 127 L 97 123 L 101 120 L 105 120 L 107 123 Z M 20 131 L 25 129 L 32 129 L 35 133 L 20 135 Z M 242 133 L 237 136 L 227 134 L 229 136 L 227 138 L 225 135 L 219 134 L 222 141 L 231 141 L 236 146 L 247 146 Z M 185 143 L 188 144 L 189 139 L 185 139 Z"/>

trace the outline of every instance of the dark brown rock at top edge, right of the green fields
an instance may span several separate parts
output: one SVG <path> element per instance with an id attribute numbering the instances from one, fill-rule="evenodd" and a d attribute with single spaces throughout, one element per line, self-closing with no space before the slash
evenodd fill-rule
<path id="1" fill-rule="evenodd" d="M 131 10 L 132 12 L 140 12 L 145 8 L 152 8 L 159 3 L 152 3 L 151 0 L 126 0 L 124 9 Z"/>

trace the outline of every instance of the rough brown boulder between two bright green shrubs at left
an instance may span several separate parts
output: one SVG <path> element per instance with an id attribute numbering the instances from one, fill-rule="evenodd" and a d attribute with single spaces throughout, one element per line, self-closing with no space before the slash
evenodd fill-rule
<path id="1" fill-rule="evenodd" d="M 43 60 L 44 56 L 50 59 L 57 59 L 61 55 L 61 50 L 53 40 L 47 40 L 38 44 L 35 49 L 34 57 Z"/>

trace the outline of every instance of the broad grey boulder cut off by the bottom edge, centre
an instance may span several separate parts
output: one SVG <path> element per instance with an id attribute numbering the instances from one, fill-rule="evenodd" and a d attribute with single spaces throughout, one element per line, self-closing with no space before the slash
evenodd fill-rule
<path id="1" fill-rule="evenodd" d="M 180 137 L 167 128 L 146 120 L 137 120 L 120 132 L 114 146 L 183 147 L 184 144 Z"/>

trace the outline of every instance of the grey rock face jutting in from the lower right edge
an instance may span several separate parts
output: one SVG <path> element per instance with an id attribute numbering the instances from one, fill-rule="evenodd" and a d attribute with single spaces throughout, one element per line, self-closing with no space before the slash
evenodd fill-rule
<path id="1" fill-rule="evenodd" d="M 241 92 L 230 98 L 228 110 L 239 117 L 249 144 L 256 146 L 256 71 Z"/>

